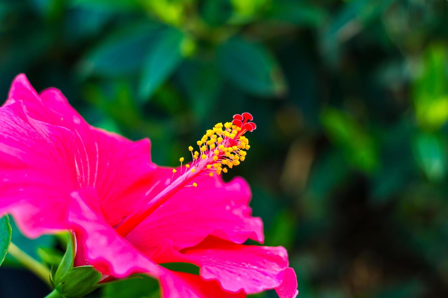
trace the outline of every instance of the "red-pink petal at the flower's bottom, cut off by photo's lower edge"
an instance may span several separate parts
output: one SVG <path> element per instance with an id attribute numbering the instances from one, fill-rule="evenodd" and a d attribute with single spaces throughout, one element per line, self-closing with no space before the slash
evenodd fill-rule
<path id="1" fill-rule="evenodd" d="M 200 276 L 165 270 L 159 276 L 163 298 L 244 298 L 244 292 L 224 291 L 218 282 L 205 281 Z"/>

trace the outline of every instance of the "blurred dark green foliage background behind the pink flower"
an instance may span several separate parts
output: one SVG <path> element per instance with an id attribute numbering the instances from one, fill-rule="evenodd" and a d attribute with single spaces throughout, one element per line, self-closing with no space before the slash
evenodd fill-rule
<path id="1" fill-rule="evenodd" d="M 248 111 L 250 154 L 225 179 L 249 181 L 300 297 L 446 297 L 447 10 L 445 0 L 0 0 L 0 94 L 25 72 L 92 125 L 150 137 L 153 160 L 170 166 L 205 129 Z M 22 248 L 58 260 L 48 237 Z M 2 297 L 21 278 L 8 277 Z M 92 295 L 158 295 L 147 278 L 126 283 L 133 292 L 117 283 Z"/>

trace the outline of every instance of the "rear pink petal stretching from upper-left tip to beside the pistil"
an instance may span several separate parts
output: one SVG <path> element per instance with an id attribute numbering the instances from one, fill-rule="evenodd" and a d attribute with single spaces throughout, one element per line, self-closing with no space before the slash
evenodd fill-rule
<path id="1" fill-rule="evenodd" d="M 38 95 L 24 74 L 14 79 L 5 106 L 17 101 L 24 102 L 30 118 L 73 132 L 80 185 L 97 189 L 100 209 L 109 223 L 116 225 L 149 201 L 145 193 L 151 186 L 146 183 L 155 165 L 148 139 L 132 142 L 89 126 L 60 90 L 48 88 Z"/>

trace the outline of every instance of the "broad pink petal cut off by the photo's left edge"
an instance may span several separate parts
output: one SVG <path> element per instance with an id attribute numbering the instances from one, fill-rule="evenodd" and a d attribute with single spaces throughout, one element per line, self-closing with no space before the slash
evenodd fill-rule
<path id="1" fill-rule="evenodd" d="M 0 119 L 0 214 L 29 237 L 62 228 L 63 202 L 78 188 L 73 133 L 29 118 L 21 101 L 1 107 Z"/>

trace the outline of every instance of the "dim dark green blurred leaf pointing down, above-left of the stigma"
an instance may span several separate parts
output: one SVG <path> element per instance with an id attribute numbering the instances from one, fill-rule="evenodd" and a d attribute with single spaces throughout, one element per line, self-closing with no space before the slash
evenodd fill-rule
<path id="1" fill-rule="evenodd" d="M 199 59 L 186 61 L 179 69 L 179 79 L 195 115 L 202 118 L 215 108 L 222 79 L 212 63 Z"/>

